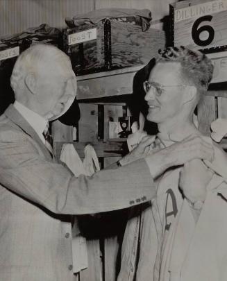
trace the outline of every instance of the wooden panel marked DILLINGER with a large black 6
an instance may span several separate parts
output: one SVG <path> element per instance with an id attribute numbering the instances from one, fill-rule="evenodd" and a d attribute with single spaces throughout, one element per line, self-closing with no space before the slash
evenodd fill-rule
<path id="1" fill-rule="evenodd" d="M 180 1 L 170 5 L 174 46 L 213 49 L 227 45 L 227 0 Z"/>

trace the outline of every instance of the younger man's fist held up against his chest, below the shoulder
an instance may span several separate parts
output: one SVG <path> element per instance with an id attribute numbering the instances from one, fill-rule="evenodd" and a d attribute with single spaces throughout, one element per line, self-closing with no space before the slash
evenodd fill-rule
<path id="1" fill-rule="evenodd" d="M 214 172 L 198 159 L 184 164 L 180 171 L 179 186 L 186 198 L 192 202 L 205 201 L 208 186 Z"/>

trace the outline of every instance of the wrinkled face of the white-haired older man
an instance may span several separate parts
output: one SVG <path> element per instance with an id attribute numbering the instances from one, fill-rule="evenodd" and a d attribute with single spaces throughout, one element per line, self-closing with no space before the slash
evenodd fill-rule
<path id="1" fill-rule="evenodd" d="M 54 120 L 64 114 L 76 97 L 76 76 L 69 59 L 59 56 L 40 67 L 37 77 L 37 106 L 42 116 Z"/>

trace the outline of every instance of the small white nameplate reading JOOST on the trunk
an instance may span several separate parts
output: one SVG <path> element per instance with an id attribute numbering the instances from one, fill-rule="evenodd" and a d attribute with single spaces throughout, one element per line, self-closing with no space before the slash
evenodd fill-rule
<path id="1" fill-rule="evenodd" d="M 97 29 L 91 28 L 91 29 L 87 29 L 86 31 L 69 34 L 68 44 L 69 46 L 74 44 L 80 44 L 83 42 L 95 40 L 96 38 L 97 38 Z"/>

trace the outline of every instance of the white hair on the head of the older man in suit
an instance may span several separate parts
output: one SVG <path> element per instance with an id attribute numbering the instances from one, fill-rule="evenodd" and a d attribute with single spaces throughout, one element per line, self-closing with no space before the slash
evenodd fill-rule
<path id="1" fill-rule="evenodd" d="M 20 83 L 24 81 L 28 73 L 37 73 L 40 65 L 49 65 L 49 63 L 53 63 L 62 56 L 69 60 L 65 53 L 51 44 L 34 44 L 23 51 L 17 58 L 10 78 L 11 87 L 15 95 L 20 88 Z"/>

